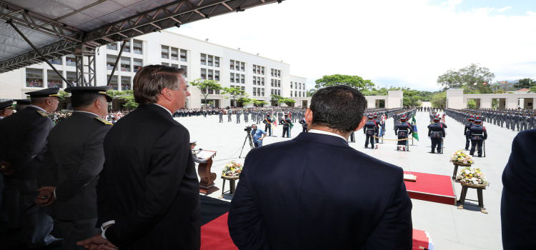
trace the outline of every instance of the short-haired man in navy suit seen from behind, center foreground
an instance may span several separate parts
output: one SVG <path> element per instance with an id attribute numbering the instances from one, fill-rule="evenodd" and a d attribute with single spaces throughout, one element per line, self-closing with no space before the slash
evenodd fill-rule
<path id="1" fill-rule="evenodd" d="M 402 169 L 348 146 L 365 105 L 347 86 L 319 89 L 309 133 L 249 152 L 229 210 L 239 249 L 412 248 Z"/>

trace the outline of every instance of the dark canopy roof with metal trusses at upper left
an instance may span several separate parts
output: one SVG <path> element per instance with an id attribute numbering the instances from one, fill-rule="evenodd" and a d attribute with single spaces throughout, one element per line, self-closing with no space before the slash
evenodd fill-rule
<path id="1" fill-rule="evenodd" d="M 281 0 L 0 0 L 0 73 Z"/>

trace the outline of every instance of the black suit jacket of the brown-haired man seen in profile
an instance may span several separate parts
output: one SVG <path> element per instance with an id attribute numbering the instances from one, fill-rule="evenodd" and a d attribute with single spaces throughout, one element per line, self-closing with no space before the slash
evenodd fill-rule
<path id="1" fill-rule="evenodd" d="M 98 225 L 121 249 L 199 249 L 199 181 L 188 130 L 167 110 L 140 105 L 104 138 Z"/>

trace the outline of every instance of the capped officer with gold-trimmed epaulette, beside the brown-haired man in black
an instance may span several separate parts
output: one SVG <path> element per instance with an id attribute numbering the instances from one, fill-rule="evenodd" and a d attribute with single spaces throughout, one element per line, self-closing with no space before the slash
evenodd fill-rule
<path id="1" fill-rule="evenodd" d="M 110 88 L 65 89 L 72 93 L 73 114 L 54 126 L 47 138 L 36 203 L 50 206 L 54 226 L 64 238 L 62 249 L 79 249 L 76 241 L 100 232 L 95 228 L 95 186 L 104 164 L 102 141 L 111 129 L 111 123 L 102 119 L 108 114 L 111 97 L 106 90 Z"/>

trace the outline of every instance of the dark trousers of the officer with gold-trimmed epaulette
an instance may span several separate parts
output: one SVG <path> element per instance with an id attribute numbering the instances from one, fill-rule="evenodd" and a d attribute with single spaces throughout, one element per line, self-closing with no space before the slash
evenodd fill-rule
<path id="1" fill-rule="evenodd" d="M 54 219 L 54 226 L 59 229 L 61 236 L 63 236 L 63 243 L 61 249 L 81 250 L 84 249 L 81 246 L 76 245 L 76 241 L 89 239 L 95 234 L 99 234 L 101 230 L 95 228 L 96 218 L 94 219 L 81 219 L 76 221 L 60 221 Z"/>

